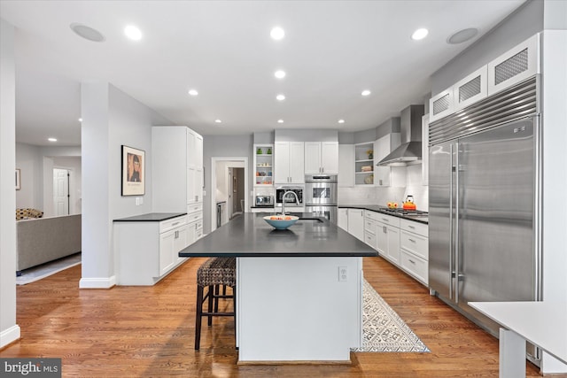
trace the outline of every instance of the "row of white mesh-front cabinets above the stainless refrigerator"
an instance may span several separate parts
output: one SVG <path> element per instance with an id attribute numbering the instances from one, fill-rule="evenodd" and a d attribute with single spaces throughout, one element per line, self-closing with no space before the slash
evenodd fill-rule
<path id="1" fill-rule="evenodd" d="M 432 96 L 429 122 L 460 111 L 536 73 L 540 73 L 539 34 L 508 50 L 488 65 L 478 68 L 451 88 Z"/>

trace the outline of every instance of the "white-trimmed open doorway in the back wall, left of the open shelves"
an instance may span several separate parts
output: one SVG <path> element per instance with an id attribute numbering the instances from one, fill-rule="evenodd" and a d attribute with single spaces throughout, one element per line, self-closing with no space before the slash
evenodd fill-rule
<path id="1" fill-rule="evenodd" d="M 247 212 L 248 157 L 211 158 L 211 231 Z M 215 216 L 216 214 L 216 216 Z"/>

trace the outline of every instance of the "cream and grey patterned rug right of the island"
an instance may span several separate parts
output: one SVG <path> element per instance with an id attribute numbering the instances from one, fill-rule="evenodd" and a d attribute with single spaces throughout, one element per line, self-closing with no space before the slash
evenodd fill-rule
<path id="1" fill-rule="evenodd" d="M 366 280 L 362 297 L 362 347 L 352 351 L 430 351 Z"/>

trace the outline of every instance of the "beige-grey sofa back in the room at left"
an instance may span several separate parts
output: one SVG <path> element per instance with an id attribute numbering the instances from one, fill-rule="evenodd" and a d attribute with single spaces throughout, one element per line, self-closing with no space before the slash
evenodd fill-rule
<path id="1" fill-rule="evenodd" d="M 81 214 L 18 220 L 17 272 L 81 251 Z"/>

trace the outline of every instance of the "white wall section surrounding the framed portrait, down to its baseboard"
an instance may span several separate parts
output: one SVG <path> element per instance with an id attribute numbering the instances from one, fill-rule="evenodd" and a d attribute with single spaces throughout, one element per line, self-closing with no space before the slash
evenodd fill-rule
<path id="1" fill-rule="evenodd" d="M 174 125 L 107 82 L 82 83 L 81 288 L 115 283 L 113 220 L 151 212 L 151 126 Z M 144 204 L 121 197 L 121 145 L 145 151 Z"/>

